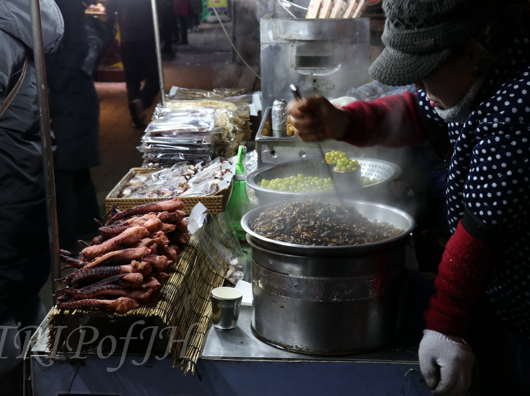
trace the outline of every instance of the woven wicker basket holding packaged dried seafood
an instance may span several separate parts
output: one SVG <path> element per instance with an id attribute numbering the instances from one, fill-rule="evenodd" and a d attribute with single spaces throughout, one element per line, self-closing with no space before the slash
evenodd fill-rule
<path id="1" fill-rule="evenodd" d="M 120 210 L 133 208 L 133 206 L 141 205 L 149 202 L 163 201 L 163 198 L 118 198 L 121 191 L 129 180 L 133 178 L 136 174 L 143 174 L 152 172 L 151 169 L 142 169 L 142 168 L 132 168 L 127 172 L 125 176 L 118 182 L 110 193 L 105 198 L 105 209 L 107 211 L 112 209 L 113 205 L 118 205 Z M 215 195 L 205 195 L 205 196 L 183 196 L 181 197 L 182 202 L 184 203 L 184 211 L 186 214 L 190 214 L 191 209 L 197 203 L 201 202 L 206 206 L 208 211 L 211 214 L 221 213 L 226 208 L 226 203 L 230 195 L 230 187 L 224 188 L 222 191 L 218 191 Z"/>

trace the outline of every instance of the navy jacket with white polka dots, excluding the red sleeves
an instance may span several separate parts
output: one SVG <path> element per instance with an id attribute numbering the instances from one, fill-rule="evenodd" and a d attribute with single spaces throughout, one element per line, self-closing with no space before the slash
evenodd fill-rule
<path id="1" fill-rule="evenodd" d="M 449 228 L 469 213 L 486 237 L 498 242 L 488 295 L 501 318 L 530 340 L 530 43 L 515 40 L 509 65 L 484 80 L 472 112 L 449 123 L 454 146 L 447 181 Z M 418 94 L 420 111 L 443 122 Z"/>

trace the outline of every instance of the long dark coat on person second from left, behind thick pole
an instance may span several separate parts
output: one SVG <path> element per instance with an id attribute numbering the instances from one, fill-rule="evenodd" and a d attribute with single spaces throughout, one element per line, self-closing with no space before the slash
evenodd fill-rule
<path id="1" fill-rule="evenodd" d="M 51 129 L 59 170 L 86 169 L 101 163 L 99 99 L 94 80 L 81 70 L 88 51 L 81 0 L 55 0 L 65 32 L 57 51 L 46 57 Z"/>

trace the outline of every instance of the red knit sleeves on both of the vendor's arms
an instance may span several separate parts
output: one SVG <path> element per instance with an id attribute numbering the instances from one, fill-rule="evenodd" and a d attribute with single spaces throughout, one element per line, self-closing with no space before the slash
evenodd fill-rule
<path id="1" fill-rule="evenodd" d="M 416 94 L 356 101 L 345 107 L 355 131 L 344 141 L 359 147 L 415 146 L 430 136 L 418 110 Z M 473 308 L 485 292 L 493 266 L 493 247 L 462 225 L 449 239 L 424 316 L 430 330 L 462 337 L 469 330 Z"/>

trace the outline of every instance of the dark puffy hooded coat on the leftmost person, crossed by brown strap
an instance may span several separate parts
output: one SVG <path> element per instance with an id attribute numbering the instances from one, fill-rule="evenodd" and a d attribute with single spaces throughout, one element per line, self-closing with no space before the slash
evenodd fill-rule
<path id="1" fill-rule="evenodd" d="M 63 19 L 41 0 L 45 51 L 55 50 Z M 29 2 L 0 0 L 0 103 L 15 85 L 32 49 Z M 31 59 L 31 58 L 30 58 Z M 17 299 L 37 294 L 49 273 L 39 107 L 33 61 L 20 91 L 0 118 L 0 317 Z"/>

